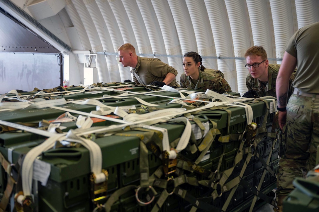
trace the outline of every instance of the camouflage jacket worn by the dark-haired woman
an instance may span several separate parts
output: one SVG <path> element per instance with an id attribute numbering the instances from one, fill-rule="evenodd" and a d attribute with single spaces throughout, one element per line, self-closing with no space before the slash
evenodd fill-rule
<path id="1" fill-rule="evenodd" d="M 182 74 L 180 80 L 181 86 L 187 89 L 203 89 L 204 91 L 210 89 L 220 94 L 232 92 L 230 85 L 224 78 L 224 74 L 219 70 L 205 69 L 204 71 L 199 71 L 196 85 L 192 83 L 190 77 L 186 76 L 186 74 Z"/>

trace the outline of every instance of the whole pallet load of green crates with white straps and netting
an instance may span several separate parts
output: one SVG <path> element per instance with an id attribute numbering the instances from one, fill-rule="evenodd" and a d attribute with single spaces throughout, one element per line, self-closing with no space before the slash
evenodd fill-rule
<path id="1" fill-rule="evenodd" d="M 40 152 L 34 163 L 44 162 L 50 167 L 50 174 L 45 186 L 39 179 L 34 179 L 33 174 L 33 195 L 30 198 L 33 211 L 98 211 L 98 205 L 102 211 L 123 212 L 152 209 L 195 211 L 196 208 L 197 211 L 244 211 L 251 205 L 250 210 L 253 210 L 259 197 L 239 181 L 245 180 L 264 194 L 275 187 L 280 145 L 273 121 L 275 100 L 235 95 L 171 88 L 161 90 L 134 83 L 19 93 L 25 97 L 24 101 L 11 92 L 2 97 L 0 106 L 0 152 L 9 163 L 23 167 L 23 157 L 46 142 L 47 135 L 72 132 L 79 134 L 85 142 L 93 141 L 99 146 L 101 167 L 107 173 L 107 181 L 99 187 L 100 190 L 97 183 L 92 183 L 92 155 L 83 145 L 67 140 L 56 141 L 52 148 Z M 9 104 L 17 102 L 27 103 L 21 103 L 19 109 L 9 108 Z M 52 104 L 47 106 L 44 102 Z M 154 115 L 143 120 L 143 115 L 147 114 Z M 70 115 L 70 122 L 65 122 L 67 115 Z M 82 119 L 83 122 L 92 120 L 88 128 L 76 123 L 81 116 L 89 117 Z M 189 130 L 185 129 L 188 124 L 191 128 L 187 129 L 192 133 L 187 136 L 185 131 Z M 165 133 L 166 141 L 171 145 L 168 149 L 163 143 Z M 151 138 L 146 140 L 147 136 Z M 181 137 L 187 140 L 181 141 Z M 148 151 L 141 151 L 141 142 L 145 142 Z M 178 150 L 180 143 L 184 147 Z M 171 147 L 177 149 L 177 159 L 165 160 L 170 164 L 167 165 L 163 157 L 174 154 L 170 152 Z M 147 166 L 141 165 L 145 163 Z M 141 175 L 141 170 L 148 176 Z M 12 169 L 11 172 L 19 176 L 20 171 Z M 154 172 L 161 174 L 155 176 Z M 154 188 L 154 194 L 141 176 L 152 182 L 150 186 Z M 182 176 L 192 182 L 185 183 Z M 9 197 L 7 210 L 14 208 L 14 194 L 23 191 L 23 183 L 19 178 L 15 179 L 17 183 Z M 166 186 L 159 186 L 167 179 Z M 176 186 L 178 180 L 181 184 Z M 2 168 L 1 194 L 4 194 L 7 183 L 8 173 Z M 207 183 L 210 186 L 205 186 Z M 126 187 L 130 189 L 123 190 Z M 166 198 L 162 196 L 164 188 L 170 194 Z M 160 202 L 160 198 L 165 201 Z"/>

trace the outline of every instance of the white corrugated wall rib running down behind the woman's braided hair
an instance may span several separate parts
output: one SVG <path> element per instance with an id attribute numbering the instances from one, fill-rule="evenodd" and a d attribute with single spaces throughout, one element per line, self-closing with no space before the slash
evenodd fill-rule
<path id="1" fill-rule="evenodd" d="M 204 2 L 186 0 L 186 4 L 195 32 L 198 54 L 201 57 L 216 55 L 213 39 L 211 39 L 213 37 L 211 26 L 209 21 L 205 21 L 208 20 L 208 16 L 204 12 L 206 11 Z M 202 62 L 203 65 L 207 68 L 217 69 L 216 59 L 203 58 Z"/>

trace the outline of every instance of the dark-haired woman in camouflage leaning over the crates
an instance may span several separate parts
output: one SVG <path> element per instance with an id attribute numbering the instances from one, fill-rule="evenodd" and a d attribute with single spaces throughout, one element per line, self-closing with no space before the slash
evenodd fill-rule
<path id="1" fill-rule="evenodd" d="M 210 89 L 220 94 L 232 92 L 230 85 L 219 70 L 206 69 L 202 58 L 196 52 L 188 52 L 183 57 L 184 74 L 181 75 L 181 86 L 187 89 Z"/>

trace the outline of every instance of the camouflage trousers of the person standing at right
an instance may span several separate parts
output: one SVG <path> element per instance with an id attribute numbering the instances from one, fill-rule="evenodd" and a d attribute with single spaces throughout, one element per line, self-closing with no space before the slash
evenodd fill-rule
<path id="1" fill-rule="evenodd" d="M 319 95 L 317 95 L 319 96 Z M 319 145 L 319 98 L 292 94 L 287 104 L 287 121 L 283 129 L 285 155 L 280 158 L 277 195 L 293 189 L 295 177 L 302 177 L 302 168 L 314 168 Z"/>

